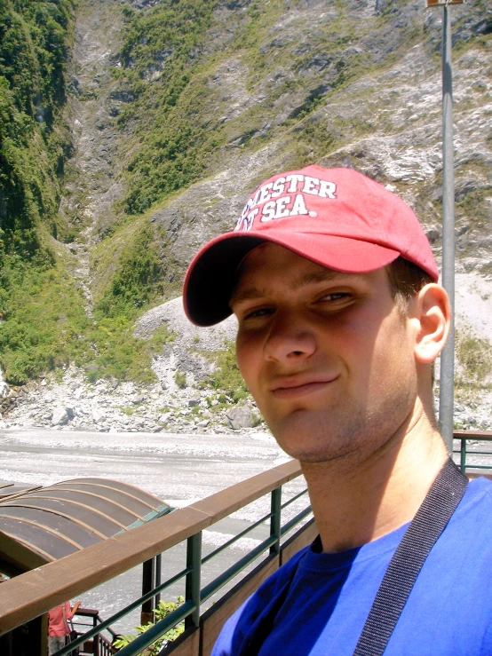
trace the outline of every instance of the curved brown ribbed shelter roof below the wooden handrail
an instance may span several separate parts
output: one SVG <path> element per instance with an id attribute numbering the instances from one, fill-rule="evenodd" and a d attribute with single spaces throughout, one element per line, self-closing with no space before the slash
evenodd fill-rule
<path id="1" fill-rule="evenodd" d="M 28 490 L 10 487 L 12 494 L 0 502 L 0 572 L 10 576 L 172 510 L 139 487 L 107 478 L 75 478 Z"/>

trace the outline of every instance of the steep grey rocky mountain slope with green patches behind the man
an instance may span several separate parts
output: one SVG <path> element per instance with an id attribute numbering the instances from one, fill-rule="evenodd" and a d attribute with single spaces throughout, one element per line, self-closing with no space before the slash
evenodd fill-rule
<path id="1" fill-rule="evenodd" d="M 31 382 L 13 388 L 7 425 L 159 430 L 178 417 L 173 429 L 202 422 L 211 430 L 230 426 L 226 397 L 250 407 L 244 425 L 256 423 L 250 400 L 231 391 L 238 379 L 226 376 L 234 323 L 195 330 L 172 299 L 194 251 L 235 225 L 250 191 L 274 170 L 318 162 L 369 174 L 416 209 L 440 257 L 442 12 L 424 4 L 79 0 L 65 73 L 72 148 L 57 217 L 63 229 L 46 243 L 56 270 L 74 281 L 70 303 L 84 319 L 65 312 L 76 348 L 39 360 Z M 456 419 L 485 425 L 492 10 L 471 0 L 452 17 Z M 9 376 L 19 352 L 12 360 L 5 353 Z M 477 388 L 485 405 L 472 408 Z"/>

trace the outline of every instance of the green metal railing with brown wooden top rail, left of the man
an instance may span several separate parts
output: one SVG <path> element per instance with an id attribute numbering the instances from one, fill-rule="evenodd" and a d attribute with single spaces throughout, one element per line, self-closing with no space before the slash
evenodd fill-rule
<path id="1" fill-rule="evenodd" d="M 268 470 L 256 477 L 231 486 L 217 494 L 196 502 L 191 506 L 174 511 L 163 518 L 157 518 L 147 525 L 139 526 L 129 533 L 117 535 L 106 541 L 99 542 L 59 561 L 49 563 L 28 573 L 20 574 L 14 580 L 6 581 L 0 588 L 0 633 L 12 630 L 45 613 L 50 608 L 59 605 L 67 598 L 76 597 L 101 582 L 109 581 L 117 574 L 126 572 L 132 566 L 142 564 L 149 558 L 161 554 L 186 541 L 186 567 L 179 573 L 168 578 L 163 583 L 153 587 L 145 595 L 131 602 L 122 610 L 106 620 L 98 621 L 92 628 L 78 636 L 76 640 L 57 652 L 63 656 L 72 652 L 77 646 L 99 636 L 100 632 L 110 628 L 117 620 L 121 620 L 131 611 L 139 608 L 146 601 L 157 597 L 176 581 L 186 581 L 185 601 L 163 620 L 157 621 L 152 628 L 136 637 L 131 644 L 118 652 L 122 656 L 139 654 L 147 647 L 162 638 L 179 622 L 185 621 L 186 628 L 198 627 L 200 622 L 200 606 L 210 599 L 226 583 L 232 581 L 250 565 L 258 562 L 258 557 L 272 557 L 281 550 L 282 538 L 287 536 L 296 526 L 300 526 L 311 515 L 308 500 L 302 510 L 294 512 L 290 506 L 295 502 L 303 502 L 306 486 L 287 502 L 282 503 L 282 487 L 298 478 L 301 471 L 298 462 L 291 461 Z M 270 494 L 270 510 L 257 521 L 210 554 L 202 555 L 202 529 L 207 528 L 220 519 L 228 517 L 251 502 Z M 285 519 L 285 511 L 290 508 L 293 517 Z M 234 565 L 217 576 L 213 581 L 202 586 L 202 565 L 210 562 L 225 549 L 229 549 L 237 541 L 257 529 L 268 527 L 268 536 L 258 545 L 250 549 Z M 119 556 L 116 556 L 119 554 Z M 58 581 L 61 581 L 59 583 Z"/>

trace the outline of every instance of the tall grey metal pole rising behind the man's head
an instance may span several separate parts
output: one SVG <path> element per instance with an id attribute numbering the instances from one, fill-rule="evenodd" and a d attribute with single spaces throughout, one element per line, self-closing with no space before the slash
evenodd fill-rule
<path id="1" fill-rule="evenodd" d="M 440 432 L 453 452 L 455 391 L 455 176 L 453 170 L 453 67 L 451 12 L 442 17 L 442 286 L 448 292 L 453 316 L 448 343 L 440 354 Z"/>

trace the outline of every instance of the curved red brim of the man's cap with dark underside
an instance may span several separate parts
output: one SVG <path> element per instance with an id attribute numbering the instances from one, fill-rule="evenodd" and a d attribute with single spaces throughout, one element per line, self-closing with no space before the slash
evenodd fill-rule
<path id="1" fill-rule="evenodd" d="M 259 244 L 271 241 L 302 257 L 346 273 L 368 273 L 389 265 L 401 254 L 369 242 L 319 233 L 226 233 L 202 247 L 186 272 L 183 303 L 196 326 L 213 326 L 232 314 L 229 298 L 242 259 Z"/>

